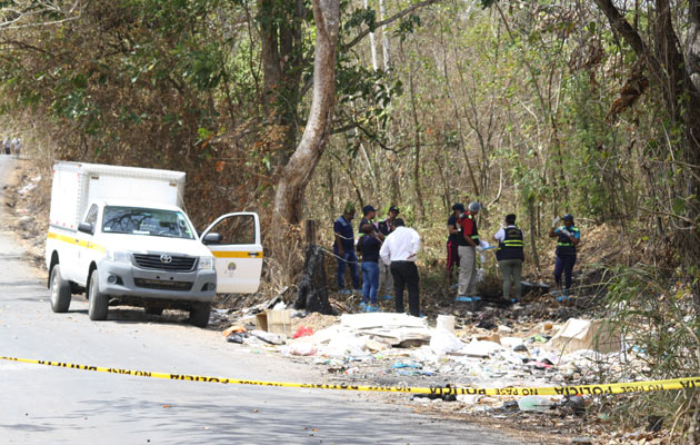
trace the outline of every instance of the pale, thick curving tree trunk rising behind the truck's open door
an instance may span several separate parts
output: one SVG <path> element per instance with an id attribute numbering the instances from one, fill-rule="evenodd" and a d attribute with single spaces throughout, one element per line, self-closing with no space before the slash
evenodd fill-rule
<path id="1" fill-rule="evenodd" d="M 289 224 L 301 220 L 303 194 L 330 134 L 336 99 L 339 0 L 313 0 L 313 19 L 317 36 L 311 110 L 297 149 L 281 169 L 274 195 L 274 211 Z"/>

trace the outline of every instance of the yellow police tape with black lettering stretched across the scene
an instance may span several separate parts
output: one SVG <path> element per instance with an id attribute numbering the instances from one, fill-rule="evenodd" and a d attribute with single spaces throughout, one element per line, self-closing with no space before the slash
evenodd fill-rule
<path id="1" fill-rule="evenodd" d="M 208 377 L 200 375 L 153 373 L 150 370 L 133 370 L 120 368 L 104 368 L 100 366 L 76 365 L 72 363 L 34 360 L 31 358 L 3 357 L 0 359 L 31 363 L 34 365 L 57 366 L 61 368 L 94 370 L 97 373 L 111 373 L 130 375 L 137 377 L 164 378 L 168 380 L 208 382 L 228 385 L 254 385 L 274 386 L 286 388 L 317 388 L 317 389 L 348 389 L 348 390 L 373 390 L 383 393 L 412 393 L 412 394 L 438 394 L 438 395 L 460 395 L 479 394 L 489 396 L 567 396 L 567 395 L 590 395 L 590 394 L 622 394 L 648 390 L 670 390 L 670 389 L 694 389 L 700 387 L 700 377 L 672 378 L 668 380 L 610 383 L 604 385 L 578 385 L 578 386 L 552 386 L 540 388 L 473 388 L 454 386 L 432 386 L 432 387 L 410 387 L 410 386 L 361 386 L 351 384 L 320 384 L 320 383 L 283 383 L 283 382 L 261 382 L 243 380 L 238 378 Z"/>

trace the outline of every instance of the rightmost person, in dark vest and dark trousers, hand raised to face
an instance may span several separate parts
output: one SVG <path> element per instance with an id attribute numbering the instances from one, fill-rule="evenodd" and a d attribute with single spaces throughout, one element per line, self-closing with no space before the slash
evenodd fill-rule
<path id="1" fill-rule="evenodd" d="M 557 227 L 560 220 L 563 226 Z M 571 273 L 576 264 L 576 249 L 581 241 L 581 231 L 573 224 L 573 215 L 567 214 L 563 218 L 556 217 L 552 221 L 552 228 L 549 230 L 550 238 L 557 238 L 557 263 L 554 265 L 554 280 L 559 290 L 552 293 L 557 296 L 558 301 L 569 299 L 569 289 L 571 289 Z M 561 290 L 561 274 L 564 275 L 564 289 Z"/>

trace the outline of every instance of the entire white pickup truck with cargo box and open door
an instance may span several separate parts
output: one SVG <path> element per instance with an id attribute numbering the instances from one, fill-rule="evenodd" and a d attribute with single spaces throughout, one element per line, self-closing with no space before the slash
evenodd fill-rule
<path id="1" fill-rule="evenodd" d="M 204 327 L 217 293 L 254 293 L 262 245 L 254 212 L 228 214 L 201 235 L 182 210 L 184 172 L 94 164 L 53 167 L 46 263 L 51 309 L 86 291 L 90 319 L 110 305 L 189 310 Z"/>

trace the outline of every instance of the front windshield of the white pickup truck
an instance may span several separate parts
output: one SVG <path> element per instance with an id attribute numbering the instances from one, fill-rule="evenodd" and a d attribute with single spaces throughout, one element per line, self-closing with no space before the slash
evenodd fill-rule
<path id="1" fill-rule="evenodd" d="M 181 211 L 139 207 L 104 207 L 102 231 L 184 239 L 194 238 L 193 231 Z"/>

